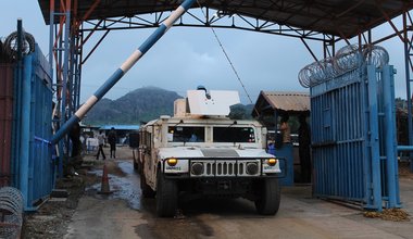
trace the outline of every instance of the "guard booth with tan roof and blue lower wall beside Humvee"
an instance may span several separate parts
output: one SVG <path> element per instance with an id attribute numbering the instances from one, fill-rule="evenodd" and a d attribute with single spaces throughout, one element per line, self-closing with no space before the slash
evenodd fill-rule
<path id="1" fill-rule="evenodd" d="M 301 183 L 301 163 L 299 158 L 298 127 L 299 115 L 310 116 L 310 95 L 306 92 L 261 91 L 252 116 L 263 123 L 268 129 L 267 142 L 275 140 L 275 155 L 284 158 L 281 171 L 286 177 L 280 179 L 283 186 Z M 290 143 L 277 140 L 280 135 L 280 118 L 288 114 L 290 126 Z M 305 181 L 310 183 L 310 181 Z"/>

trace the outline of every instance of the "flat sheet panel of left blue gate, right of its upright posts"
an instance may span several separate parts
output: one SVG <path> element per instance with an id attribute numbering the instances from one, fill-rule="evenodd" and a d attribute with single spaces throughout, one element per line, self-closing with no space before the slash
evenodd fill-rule
<path id="1" fill-rule="evenodd" d="M 33 55 L 32 102 L 30 102 L 30 153 L 28 205 L 50 194 L 54 187 L 54 165 L 52 162 L 52 89 L 48 62 L 39 48 Z"/>

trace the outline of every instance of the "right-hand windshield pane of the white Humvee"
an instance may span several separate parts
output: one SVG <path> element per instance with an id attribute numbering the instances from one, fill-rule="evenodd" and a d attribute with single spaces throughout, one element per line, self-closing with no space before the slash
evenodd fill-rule
<path id="1" fill-rule="evenodd" d="M 214 127 L 214 142 L 255 142 L 252 127 Z"/>

